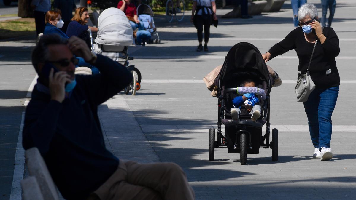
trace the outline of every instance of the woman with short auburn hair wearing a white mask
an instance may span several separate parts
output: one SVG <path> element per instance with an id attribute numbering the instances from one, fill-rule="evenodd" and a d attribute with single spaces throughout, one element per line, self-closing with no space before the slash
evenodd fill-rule
<path id="1" fill-rule="evenodd" d="M 49 10 L 45 16 L 46 27 L 43 34 L 57 34 L 64 38 L 69 38 L 66 33 L 64 33 L 61 29 L 64 22 L 62 21 L 62 13 L 60 10 Z"/>

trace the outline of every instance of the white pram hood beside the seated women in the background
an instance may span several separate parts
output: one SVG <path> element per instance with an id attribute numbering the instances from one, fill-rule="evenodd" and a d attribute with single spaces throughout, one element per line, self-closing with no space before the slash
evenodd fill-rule
<path id="1" fill-rule="evenodd" d="M 110 7 L 101 12 L 98 19 L 98 36 L 95 42 L 113 46 L 132 44 L 132 27 L 120 9 Z"/>

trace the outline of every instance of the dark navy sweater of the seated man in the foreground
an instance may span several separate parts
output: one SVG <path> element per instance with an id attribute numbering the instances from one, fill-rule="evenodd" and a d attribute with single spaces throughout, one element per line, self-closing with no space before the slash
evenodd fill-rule
<path id="1" fill-rule="evenodd" d="M 77 85 L 62 103 L 36 85 L 26 108 L 23 147 L 40 150 L 66 199 L 86 199 L 119 165 L 105 148 L 97 111 L 131 82 L 132 75 L 104 56 L 98 55 L 94 65 L 100 74 L 76 75 Z"/>

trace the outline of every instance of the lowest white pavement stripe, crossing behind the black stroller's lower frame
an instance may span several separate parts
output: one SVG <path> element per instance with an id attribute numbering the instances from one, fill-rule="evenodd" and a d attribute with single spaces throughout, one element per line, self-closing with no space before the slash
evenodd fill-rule
<path id="1" fill-rule="evenodd" d="M 140 125 L 143 132 L 192 132 L 192 133 L 206 133 L 209 128 L 216 128 L 216 126 L 205 125 Z M 224 126 L 224 125 L 223 125 Z M 309 132 L 308 125 L 271 125 L 271 130 L 277 128 L 281 132 Z M 265 131 L 266 127 L 262 127 L 262 131 Z M 333 125 L 333 132 L 356 132 L 356 126 L 352 125 Z"/>

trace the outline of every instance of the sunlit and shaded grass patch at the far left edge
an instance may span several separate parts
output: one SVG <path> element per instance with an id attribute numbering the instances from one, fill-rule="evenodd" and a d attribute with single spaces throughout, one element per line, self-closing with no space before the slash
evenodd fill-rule
<path id="1" fill-rule="evenodd" d="M 36 35 L 33 18 L 0 21 L 0 40 L 29 35 Z"/>

